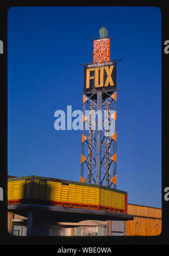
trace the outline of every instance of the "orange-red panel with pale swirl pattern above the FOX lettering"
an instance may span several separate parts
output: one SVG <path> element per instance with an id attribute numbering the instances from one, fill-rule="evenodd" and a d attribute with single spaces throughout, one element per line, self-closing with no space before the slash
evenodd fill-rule
<path id="1" fill-rule="evenodd" d="M 110 61 L 110 38 L 94 40 L 93 63 Z"/>

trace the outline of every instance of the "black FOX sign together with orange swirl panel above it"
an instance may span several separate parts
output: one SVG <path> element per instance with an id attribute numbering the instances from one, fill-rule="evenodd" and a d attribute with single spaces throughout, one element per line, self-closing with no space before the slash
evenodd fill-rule
<path id="1" fill-rule="evenodd" d="M 94 40 L 93 64 L 84 66 L 84 93 L 116 89 L 116 62 L 110 62 L 110 38 Z"/>

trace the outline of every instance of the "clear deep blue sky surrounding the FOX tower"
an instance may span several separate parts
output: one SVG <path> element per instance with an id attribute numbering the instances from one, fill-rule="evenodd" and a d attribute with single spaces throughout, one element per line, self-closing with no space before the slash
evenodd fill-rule
<path id="1" fill-rule="evenodd" d="M 82 110 L 83 63 L 108 28 L 117 64 L 117 189 L 161 207 L 161 11 L 157 7 L 8 10 L 8 175 L 80 180 L 81 132 L 54 112 Z"/>

